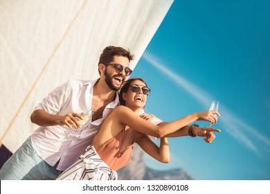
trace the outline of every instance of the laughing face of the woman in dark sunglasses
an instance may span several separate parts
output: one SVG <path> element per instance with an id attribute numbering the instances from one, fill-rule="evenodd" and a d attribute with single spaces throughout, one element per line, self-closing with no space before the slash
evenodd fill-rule
<path id="1" fill-rule="evenodd" d="M 125 100 L 125 105 L 129 108 L 143 108 L 147 100 L 147 95 L 143 94 L 143 87 L 146 87 L 145 83 L 141 80 L 134 80 L 127 93 L 123 93 L 123 99 Z M 132 89 L 134 91 L 132 91 Z M 138 91 L 135 91 L 138 90 Z"/>

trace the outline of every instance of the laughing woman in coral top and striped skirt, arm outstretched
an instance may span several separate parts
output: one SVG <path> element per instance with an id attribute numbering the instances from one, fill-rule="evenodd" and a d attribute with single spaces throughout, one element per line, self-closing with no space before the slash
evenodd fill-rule
<path id="1" fill-rule="evenodd" d="M 185 135 L 177 131 L 196 120 L 217 122 L 213 114 L 219 113 L 212 111 L 199 112 L 162 125 L 153 125 L 138 116 L 140 110 L 145 107 L 149 93 L 150 89 L 143 79 L 127 80 L 120 89 L 120 105 L 115 107 L 102 123 L 92 145 L 89 145 L 78 162 L 66 169 L 57 179 L 117 179 L 116 170 L 129 163 L 134 143 L 138 143 L 154 159 L 168 163 L 170 150 L 165 135 L 174 136 L 174 132 L 176 136 Z M 210 127 L 189 127 L 191 135 L 195 135 L 192 128 L 197 128 L 201 136 L 206 136 L 207 132 L 220 132 Z M 147 134 L 160 138 L 159 147 Z"/>

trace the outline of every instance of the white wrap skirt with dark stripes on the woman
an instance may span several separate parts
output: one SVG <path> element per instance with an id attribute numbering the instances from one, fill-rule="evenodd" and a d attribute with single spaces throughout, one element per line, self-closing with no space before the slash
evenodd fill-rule
<path id="1" fill-rule="evenodd" d="M 57 180 L 117 180 L 117 173 L 105 164 L 93 145 L 89 145 L 79 160 L 64 170 Z"/>

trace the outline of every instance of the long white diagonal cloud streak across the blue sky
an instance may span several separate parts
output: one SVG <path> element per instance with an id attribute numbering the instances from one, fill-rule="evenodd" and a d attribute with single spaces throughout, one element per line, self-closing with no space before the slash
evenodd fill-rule
<path id="1" fill-rule="evenodd" d="M 183 89 L 186 89 L 186 91 L 196 98 L 201 105 L 207 107 L 209 105 L 209 99 L 213 99 L 213 97 L 207 94 L 206 91 L 201 90 L 192 82 L 182 78 L 179 74 L 170 71 L 167 66 L 162 64 L 159 58 L 156 58 L 147 52 L 143 54 L 143 58 L 156 67 L 156 69 L 159 69 L 162 73 L 165 73 L 166 76 L 176 82 Z M 237 116 L 224 107 L 224 105 L 222 105 L 222 115 L 219 118 L 219 122 L 224 125 L 224 130 L 226 130 L 228 134 L 233 136 L 233 138 L 238 142 L 244 144 L 246 148 L 255 152 L 255 154 L 259 157 L 263 157 L 263 154 L 262 151 L 258 150 L 260 146 L 256 146 L 255 141 L 270 146 L 269 139 L 260 134 L 260 132 L 258 132 L 258 130 L 256 130 L 254 127 L 244 123 L 244 121 L 241 121 L 240 118 L 237 118 Z"/>

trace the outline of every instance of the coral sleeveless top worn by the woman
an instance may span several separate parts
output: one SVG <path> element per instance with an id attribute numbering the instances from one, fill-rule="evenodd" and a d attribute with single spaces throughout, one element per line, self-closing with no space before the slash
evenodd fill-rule
<path id="1" fill-rule="evenodd" d="M 134 141 L 132 145 L 120 152 L 126 132 L 126 130 L 119 132 L 116 136 L 103 143 L 97 150 L 100 158 L 105 161 L 111 170 L 118 170 L 127 165 L 132 157 Z"/>

